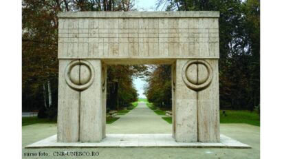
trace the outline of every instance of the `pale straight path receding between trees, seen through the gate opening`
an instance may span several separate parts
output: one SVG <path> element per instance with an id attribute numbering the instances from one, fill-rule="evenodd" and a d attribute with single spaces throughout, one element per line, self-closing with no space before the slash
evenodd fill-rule
<path id="1" fill-rule="evenodd" d="M 167 134 L 172 133 L 172 125 L 140 102 L 125 115 L 120 115 L 114 123 L 106 125 L 107 134 Z"/>

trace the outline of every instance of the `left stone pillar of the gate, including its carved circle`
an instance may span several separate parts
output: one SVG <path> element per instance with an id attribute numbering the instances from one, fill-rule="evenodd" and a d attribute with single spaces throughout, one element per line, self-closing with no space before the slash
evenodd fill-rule
<path id="1" fill-rule="evenodd" d="M 58 142 L 102 140 L 102 63 L 60 60 Z"/>

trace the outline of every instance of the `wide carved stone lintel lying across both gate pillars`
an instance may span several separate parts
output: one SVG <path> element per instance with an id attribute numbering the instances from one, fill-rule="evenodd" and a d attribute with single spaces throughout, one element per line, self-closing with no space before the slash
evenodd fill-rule
<path id="1" fill-rule="evenodd" d="M 219 58 L 219 12 L 66 12 L 59 59 Z"/>

